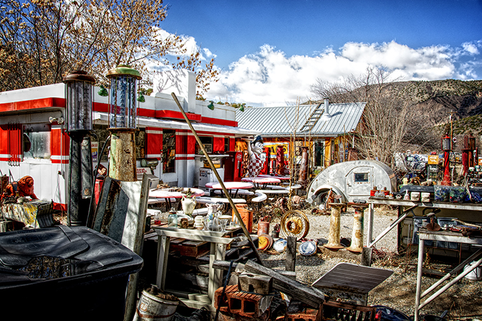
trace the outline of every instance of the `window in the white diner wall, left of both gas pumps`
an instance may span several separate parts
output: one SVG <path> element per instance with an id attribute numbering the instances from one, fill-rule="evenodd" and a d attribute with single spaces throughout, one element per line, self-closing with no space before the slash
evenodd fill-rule
<path id="1" fill-rule="evenodd" d="M 50 125 L 23 126 L 23 157 L 50 159 Z"/>

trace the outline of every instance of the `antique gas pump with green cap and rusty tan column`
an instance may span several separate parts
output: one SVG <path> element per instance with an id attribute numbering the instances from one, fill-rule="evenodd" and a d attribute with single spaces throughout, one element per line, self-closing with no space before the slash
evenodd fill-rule
<path id="1" fill-rule="evenodd" d="M 137 82 L 139 71 L 119 65 L 107 71 L 110 80 L 109 131 L 112 134 L 109 177 L 136 181 Z"/>

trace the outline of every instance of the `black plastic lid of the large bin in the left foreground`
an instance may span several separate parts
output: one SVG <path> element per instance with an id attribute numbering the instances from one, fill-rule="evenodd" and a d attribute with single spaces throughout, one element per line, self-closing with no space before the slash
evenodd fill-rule
<path id="1" fill-rule="evenodd" d="M 36 271 L 37 265 L 42 271 Z M 131 274 L 142 265 L 143 259 L 127 247 L 85 226 L 0 233 L 0 287 L 82 274 Z"/>

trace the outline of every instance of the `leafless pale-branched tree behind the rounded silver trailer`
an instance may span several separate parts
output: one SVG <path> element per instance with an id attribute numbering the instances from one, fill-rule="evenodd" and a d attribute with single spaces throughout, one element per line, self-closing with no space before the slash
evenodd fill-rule
<path id="1" fill-rule="evenodd" d="M 368 67 L 365 74 L 348 76 L 338 83 L 318 79 L 311 91 L 335 103 L 366 102 L 355 148 L 366 159 L 394 167 L 395 153 L 415 142 L 425 126 L 404 86 L 389 79 L 384 67 Z"/>

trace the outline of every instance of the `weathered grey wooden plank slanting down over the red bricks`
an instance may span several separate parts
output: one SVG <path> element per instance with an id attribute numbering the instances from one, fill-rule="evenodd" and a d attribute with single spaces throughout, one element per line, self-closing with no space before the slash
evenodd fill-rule
<path id="1" fill-rule="evenodd" d="M 266 276 L 271 276 L 273 278 L 273 287 L 279 291 L 282 291 L 289 296 L 292 296 L 296 300 L 300 300 L 301 302 L 314 307 L 315 309 L 319 308 L 319 305 L 322 305 L 324 302 L 324 297 L 319 294 L 319 292 L 311 289 L 310 287 L 306 287 L 302 283 L 299 283 L 295 280 L 291 280 L 286 276 L 282 276 L 281 274 L 274 272 L 273 269 L 269 269 L 253 261 L 248 261 L 244 265 L 244 269 L 248 272 L 263 274 Z"/>

